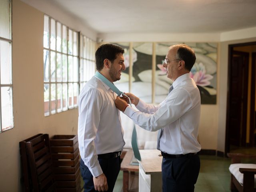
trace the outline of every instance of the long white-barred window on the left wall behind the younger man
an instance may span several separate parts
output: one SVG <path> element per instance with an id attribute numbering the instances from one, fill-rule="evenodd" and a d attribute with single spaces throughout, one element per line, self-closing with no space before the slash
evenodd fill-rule
<path id="1" fill-rule="evenodd" d="M 44 16 L 45 116 L 78 106 L 79 88 L 95 72 L 95 45 L 94 41 L 79 32 L 50 16 Z"/>

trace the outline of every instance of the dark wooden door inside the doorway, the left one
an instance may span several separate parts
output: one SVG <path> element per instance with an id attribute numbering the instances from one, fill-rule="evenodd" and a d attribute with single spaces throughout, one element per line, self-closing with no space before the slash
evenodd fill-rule
<path id="1" fill-rule="evenodd" d="M 230 73 L 229 140 L 235 146 L 246 144 L 249 53 L 233 51 Z"/>

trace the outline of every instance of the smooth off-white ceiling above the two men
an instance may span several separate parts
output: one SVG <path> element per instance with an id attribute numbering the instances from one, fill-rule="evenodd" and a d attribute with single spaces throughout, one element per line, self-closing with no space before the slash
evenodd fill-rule
<path id="1" fill-rule="evenodd" d="M 214 33 L 256 26 L 256 0 L 51 0 L 98 33 Z"/>

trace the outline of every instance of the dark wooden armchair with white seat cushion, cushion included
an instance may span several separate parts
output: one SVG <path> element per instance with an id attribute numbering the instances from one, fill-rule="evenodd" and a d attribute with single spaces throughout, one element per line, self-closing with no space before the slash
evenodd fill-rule
<path id="1" fill-rule="evenodd" d="M 255 158 L 256 155 L 228 153 L 232 158 L 229 170 L 231 172 L 230 190 L 239 192 L 256 192 L 254 188 L 254 175 L 256 174 L 256 164 L 242 164 L 242 158 Z M 242 175 L 243 174 L 243 175 Z"/>

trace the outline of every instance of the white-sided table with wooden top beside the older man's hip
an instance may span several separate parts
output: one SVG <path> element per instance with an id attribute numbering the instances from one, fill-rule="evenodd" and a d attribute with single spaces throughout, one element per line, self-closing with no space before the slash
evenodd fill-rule
<path id="1" fill-rule="evenodd" d="M 159 150 L 140 150 L 139 192 L 162 192 L 162 156 Z"/>

